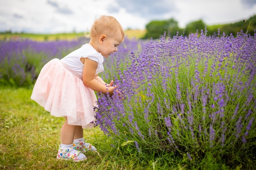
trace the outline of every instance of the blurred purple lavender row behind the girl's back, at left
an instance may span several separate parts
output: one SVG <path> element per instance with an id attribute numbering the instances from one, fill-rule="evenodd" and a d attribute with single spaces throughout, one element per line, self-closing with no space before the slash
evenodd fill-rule
<path id="1" fill-rule="evenodd" d="M 1 41 L 0 84 L 29 86 L 49 60 L 62 58 L 85 42 L 84 39 L 52 42 Z"/>

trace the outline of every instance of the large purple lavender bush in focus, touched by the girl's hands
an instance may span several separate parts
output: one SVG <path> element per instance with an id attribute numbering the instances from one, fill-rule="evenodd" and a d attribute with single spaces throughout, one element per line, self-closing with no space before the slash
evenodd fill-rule
<path id="1" fill-rule="evenodd" d="M 123 154 L 202 169 L 256 165 L 256 34 L 164 35 L 120 63 L 119 93 L 99 94 L 96 117 Z"/>

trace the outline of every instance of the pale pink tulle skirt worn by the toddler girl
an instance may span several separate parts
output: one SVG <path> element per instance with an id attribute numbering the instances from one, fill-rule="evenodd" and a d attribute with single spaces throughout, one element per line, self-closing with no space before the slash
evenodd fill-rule
<path id="1" fill-rule="evenodd" d="M 53 116 L 67 117 L 70 125 L 94 126 L 94 107 L 97 107 L 94 91 L 83 84 L 81 75 L 76 75 L 59 59 L 49 61 L 42 68 L 31 99 Z"/>

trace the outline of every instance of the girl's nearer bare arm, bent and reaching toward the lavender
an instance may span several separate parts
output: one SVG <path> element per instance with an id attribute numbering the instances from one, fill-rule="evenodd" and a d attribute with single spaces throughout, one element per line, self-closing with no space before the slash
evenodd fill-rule
<path id="1" fill-rule="evenodd" d="M 84 59 L 83 84 L 85 84 L 85 86 L 88 86 L 94 91 L 101 92 L 104 94 L 109 93 L 110 95 L 113 95 L 113 91 L 116 87 L 106 87 L 106 83 L 100 77 L 98 78 L 98 76 L 95 76 L 97 66 L 97 62 L 90 60 L 88 58 Z"/>

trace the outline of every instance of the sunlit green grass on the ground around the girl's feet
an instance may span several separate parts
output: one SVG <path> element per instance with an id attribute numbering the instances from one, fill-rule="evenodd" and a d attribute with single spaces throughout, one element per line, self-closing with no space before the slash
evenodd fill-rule
<path id="1" fill-rule="evenodd" d="M 112 139 L 99 128 L 84 130 L 84 138 L 99 151 L 88 152 L 87 161 L 56 160 L 64 118 L 51 116 L 30 99 L 31 88 L 0 88 L 0 169 L 152 169 L 138 163 L 137 155 L 123 156 L 110 146 Z"/>

